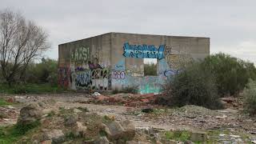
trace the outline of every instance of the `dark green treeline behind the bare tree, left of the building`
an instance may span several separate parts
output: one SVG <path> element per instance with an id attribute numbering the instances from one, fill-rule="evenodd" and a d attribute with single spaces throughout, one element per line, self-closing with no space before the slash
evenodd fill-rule
<path id="1" fill-rule="evenodd" d="M 54 59 L 42 58 L 41 62 L 31 62 L 24 74 L 17 74 L 11 83 L 0 74 L 0 93 L 44 94 L 63 90 L 58 86 L 58 61 Z"/>

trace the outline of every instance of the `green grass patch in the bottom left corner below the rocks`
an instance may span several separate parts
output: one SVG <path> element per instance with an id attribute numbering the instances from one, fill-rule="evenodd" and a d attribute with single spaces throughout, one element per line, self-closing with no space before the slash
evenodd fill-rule
<path id="1" fill-rule="evenodd" d="M 0 127 L 0 143 L 9 144 L 17 142 L 22 136 L 28 134 L 30 130 L 40 125 L 40 122 L 36 121 L 27 125 L 16 124 L 14 126 Z"/>

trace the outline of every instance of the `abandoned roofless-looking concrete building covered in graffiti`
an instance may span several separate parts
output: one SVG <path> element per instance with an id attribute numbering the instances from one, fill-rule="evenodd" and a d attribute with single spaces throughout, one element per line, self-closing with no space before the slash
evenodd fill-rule
<path id="1" fill-rule="evenodd" d="M 58 46 L 58 83 L 73 90 L 138 86 L 159 93 L 183 63 L 210 54 L 210 38 L 107 33 Z M 144 76 L 143 58 L 157 59 L 157 76 Z"/>

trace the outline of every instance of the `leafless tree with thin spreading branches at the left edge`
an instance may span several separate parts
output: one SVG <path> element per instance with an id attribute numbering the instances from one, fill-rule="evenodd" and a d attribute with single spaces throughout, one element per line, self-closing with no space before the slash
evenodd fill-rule
<path id="1" fill-rule="evenodd" d="M 0 68 L 9 84 L 25 74 L 28 64 L 50 49 L 48 35 L 34 22 L 10 10 L 0 12 Z"/>

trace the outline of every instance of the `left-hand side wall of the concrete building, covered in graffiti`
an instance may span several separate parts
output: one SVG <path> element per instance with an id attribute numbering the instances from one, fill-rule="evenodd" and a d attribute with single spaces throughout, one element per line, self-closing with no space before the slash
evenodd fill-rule
<path id="1" fill-rule="evenodd" d="M 110 90 L 110 34 L 58 46 L 58 83 L 73 90 Z"/>

